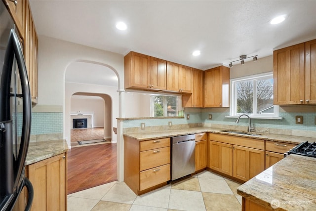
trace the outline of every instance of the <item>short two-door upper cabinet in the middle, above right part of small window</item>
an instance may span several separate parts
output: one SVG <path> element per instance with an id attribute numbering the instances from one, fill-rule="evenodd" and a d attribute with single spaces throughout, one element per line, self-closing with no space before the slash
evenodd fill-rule
<path id="1" fill-rule="evenodd" d="M 167 90 L 192 93 L 192 68 L 167 61 Z"/>

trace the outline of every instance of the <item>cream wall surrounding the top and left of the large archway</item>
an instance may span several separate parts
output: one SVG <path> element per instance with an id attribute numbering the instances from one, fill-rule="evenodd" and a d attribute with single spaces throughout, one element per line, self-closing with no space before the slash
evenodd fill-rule
<path id="1" fill-rule="evenodd" d="M 124 86 L 123 55 L 39 36 L 39 104 L 63 105 L 64 82 L 67 67 L 76 61 L 89 61 L 105 65 L 116 72 L 118 88 Z"/>

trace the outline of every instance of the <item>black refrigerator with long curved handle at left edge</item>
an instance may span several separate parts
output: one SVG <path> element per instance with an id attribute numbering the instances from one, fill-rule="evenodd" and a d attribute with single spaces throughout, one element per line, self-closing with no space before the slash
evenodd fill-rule
<path id="1" fill-rule="evenodd" d="M 0 1 L 0 211 L 11 211 L 26 186 L 30 210 L 33 187 L 25 177 L 32 101 L 14 22 Z"/>

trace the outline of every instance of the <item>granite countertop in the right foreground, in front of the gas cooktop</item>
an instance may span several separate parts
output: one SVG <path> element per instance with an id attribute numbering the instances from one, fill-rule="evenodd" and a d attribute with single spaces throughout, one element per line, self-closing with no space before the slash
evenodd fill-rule
<path id="1" fill-rule="evenodd" d="M 291 154 L 237 188 L 265 208 L 316 210 L 316 158 Z"/>

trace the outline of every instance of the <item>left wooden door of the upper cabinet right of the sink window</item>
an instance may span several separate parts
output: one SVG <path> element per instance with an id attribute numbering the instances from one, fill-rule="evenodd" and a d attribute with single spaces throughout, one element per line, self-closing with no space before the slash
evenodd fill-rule
<path id="1" fill-rule="evenodd" d="M 273 52 L 274 104 L 304 104 L 305 44 Z"/>

